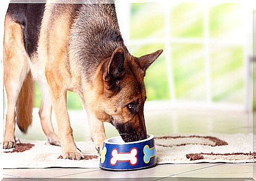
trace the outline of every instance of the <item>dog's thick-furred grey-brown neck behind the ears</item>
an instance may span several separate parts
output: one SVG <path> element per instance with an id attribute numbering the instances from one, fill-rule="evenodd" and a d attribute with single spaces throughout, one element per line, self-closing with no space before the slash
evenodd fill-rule
<path id="1" fill-rule="evenodd" d="M 117 47 L 128 53 L 119 30 L 114 4 L 83 4 L 70 32 L 70 55 L 82 76 L 93 82 L 98 66 Z"/>

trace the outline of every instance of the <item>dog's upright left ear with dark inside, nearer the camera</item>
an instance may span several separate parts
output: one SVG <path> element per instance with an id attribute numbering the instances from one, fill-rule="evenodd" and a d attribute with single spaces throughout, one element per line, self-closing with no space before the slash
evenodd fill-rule
<path id="1" fill-rule="evenodd" d="M 103 74 L 103 80 L 109 84 L 109 89 L 117 88 L 119 80 L 122 75 L 124 75 L 124 64 L 124 49 L 122 47 L 118 47 L 112 53 L 105 73 Z"/>

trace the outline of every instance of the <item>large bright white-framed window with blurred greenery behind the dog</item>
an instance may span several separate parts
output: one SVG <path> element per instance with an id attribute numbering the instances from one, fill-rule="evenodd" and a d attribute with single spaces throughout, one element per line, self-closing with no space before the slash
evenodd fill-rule
<path id="1" fill-rule="evenodd" d="M 148 100 L 250 109 L 248 2 L 137 2 L 128 1 L 124 6 L 116 1 L 119 11 L 128 12 L 119 25 L 130 53 L 141 56 L 164 49 L 146 73 Z"/>

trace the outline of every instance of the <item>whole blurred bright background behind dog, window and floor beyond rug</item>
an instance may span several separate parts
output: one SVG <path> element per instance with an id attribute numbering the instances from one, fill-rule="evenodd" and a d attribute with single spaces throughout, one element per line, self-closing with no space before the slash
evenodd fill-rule
<path id="1" fill-rule="evenodd" d="M 132 55 L 164 49 L 145 77 L 148 132 L 252 131 L 251 113 L 256 109 L 252 78 L 256 77 L 252 74 L 250 1 L 116 0 L 115 4 L 122 37 Z M 89 138 L 80 97 L 68 92 L 67 102 L 71 119 L 76 119 L 71 123 L 74 137 Z M 41 92 L 36 84 L 35 107 L 40 103 Z M 23 135 L 17 130 L 18 136 L 44 139 L 42 131 L 37 132 L 40 121 L 36 122 L 31 127 L 33 134 Z M 108 124 L 106 132 L 107 136 L 118 135 Z"/>

